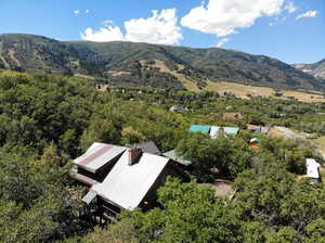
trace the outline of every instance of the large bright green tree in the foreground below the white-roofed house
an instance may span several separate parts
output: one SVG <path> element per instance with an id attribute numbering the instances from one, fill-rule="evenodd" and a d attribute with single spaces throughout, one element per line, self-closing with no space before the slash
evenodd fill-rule
<path id="1" fill-rule="evenodd" d="M 90 239 L 106 242 L 102 235 L 109 235 L 112 242 L 125 242 L 126 235 L 135 242 L 242 242 L 235 214 L 210 188 L 170 180 L 159 189 L 158 199 L 161 208 L 126 212 L 108 232 L 95 231 Z M 123 233 L 114 234 L 122 227 Z"/>

